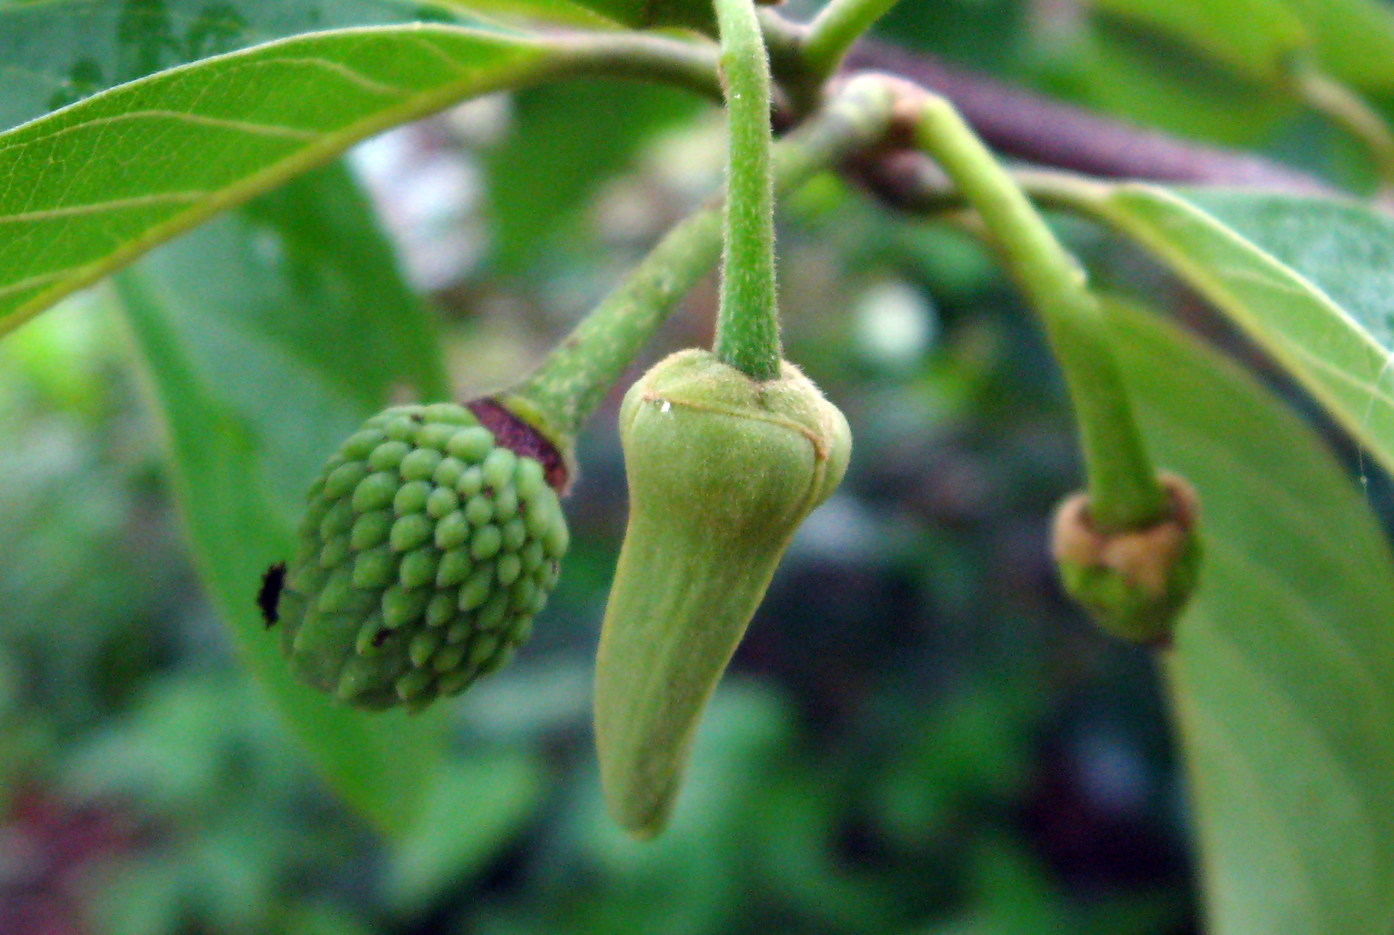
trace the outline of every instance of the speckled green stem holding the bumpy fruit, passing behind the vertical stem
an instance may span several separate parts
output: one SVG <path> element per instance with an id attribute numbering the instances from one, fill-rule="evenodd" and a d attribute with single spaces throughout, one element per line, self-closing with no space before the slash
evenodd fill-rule
<path id="1" fill-rule="evenodd" d="M 849 82 L 775 146 L 778 188 L 797 188 L 849 153 L 881 141 L 892 102 L 873 78 Z M 712 203 L 673 227 L 537 371 L 503 397 L 520 401 L 553 445 L 569 445 L 677 300 L 715 265 L 721 220 L 722 206 Z"/>

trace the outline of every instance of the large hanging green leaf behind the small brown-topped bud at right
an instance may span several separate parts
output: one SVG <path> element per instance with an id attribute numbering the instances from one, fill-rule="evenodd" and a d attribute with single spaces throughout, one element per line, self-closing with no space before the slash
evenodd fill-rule
<path id="1" fill-rule="evenodd" d="M 1213 935 L 1394 928 L 1394 556 L 1310 428 L 1175 327 L 1111 308 L 1204 567 L 1163 655 Z"/>

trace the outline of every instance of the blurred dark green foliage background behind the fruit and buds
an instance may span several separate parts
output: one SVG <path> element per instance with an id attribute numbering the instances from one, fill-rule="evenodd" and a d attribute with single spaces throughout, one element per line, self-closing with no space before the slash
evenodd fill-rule
<path id="1" fill-rule="evenodd" d="M 906 0 L 881 32 L 1369 184 L 1316 120 L 1071 3 Z M 348 164 L 468 394 L 535 362 L 700 203 L 721 146 L 718 114 L 677 92 L 572 82 Z M 1100 281 L 1200 314 L 1097 230 L 1061 230 Z M 240 666 L 110 288 L 0 343 L 0 932 L 1199 931 L 1151 659 L 1096 635 L 1054 581 L 1048 516 L 1079 464 L 1026 311 L 956 227 L 832 178 L 785 205 L 779 237 L 788 355 L 856 453 L 736 655 L 673 826 L 644 846 L 604 817 L 588 726 L 625 524 L 618 393 L 580 442 L 573 546 L 533 642 L 447 708 L 428 821 L 389 846 Z M 708 281 L 636 373 L 710 340 L 712 307 Z M 296 400 L 259 404 L 296 418 Z"/>

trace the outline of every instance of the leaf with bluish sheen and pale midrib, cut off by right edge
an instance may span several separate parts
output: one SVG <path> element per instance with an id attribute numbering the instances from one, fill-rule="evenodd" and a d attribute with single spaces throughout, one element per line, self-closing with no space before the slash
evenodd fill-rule
<path id="1" fill-rule="evenodd" d="M 1213 301 L 1394 470 L 1394 219 L 1327 198 L 1153 185 L 1112 188 L 1087 208 Z"/>

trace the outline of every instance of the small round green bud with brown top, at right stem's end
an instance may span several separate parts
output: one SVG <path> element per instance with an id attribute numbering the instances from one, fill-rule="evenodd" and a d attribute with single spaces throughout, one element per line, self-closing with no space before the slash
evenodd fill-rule
<path id="1" fill-rule="evenodd" d="M 1172 474 L 1157 478 L 1167 516 L 1147 527 L 1103 531 L 1089 496 L 1075 493 L 1055 511 L 1051 553 L 1065 591 L 1108 633 L 1165 648 L 1195 589 L 1200 546 L 1196 492 Z"/>

